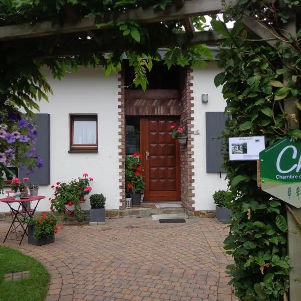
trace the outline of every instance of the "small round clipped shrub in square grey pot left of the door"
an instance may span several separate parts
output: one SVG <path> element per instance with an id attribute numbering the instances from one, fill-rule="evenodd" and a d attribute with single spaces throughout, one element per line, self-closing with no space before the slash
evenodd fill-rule
<path id="1" fill-rule="evenodd" d="M 90 196 L 90 225 L 104 225 L 105 223 L 105 200 L 103 194 Z"/>

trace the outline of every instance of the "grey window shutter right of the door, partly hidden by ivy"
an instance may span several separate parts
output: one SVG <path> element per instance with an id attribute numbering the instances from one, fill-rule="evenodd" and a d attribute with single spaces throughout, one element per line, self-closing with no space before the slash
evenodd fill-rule
<path id="1" fill-rule="evenodd" d="M 207 173 L 225 172 L 221 168 L 222 141 L 215 139 L 225 128 L 228 116 L 224 112 L 206 112 L 206 170 Z"/>

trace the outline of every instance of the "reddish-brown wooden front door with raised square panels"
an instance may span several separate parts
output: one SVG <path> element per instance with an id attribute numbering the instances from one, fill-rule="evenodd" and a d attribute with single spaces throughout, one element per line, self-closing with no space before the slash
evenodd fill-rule
<path id="1" fill-rule="evenodd" d="M 140 118 L 145 202 L 181 200 L 180 145 L 170 128 L 175 121 L 172 117 Z"/>

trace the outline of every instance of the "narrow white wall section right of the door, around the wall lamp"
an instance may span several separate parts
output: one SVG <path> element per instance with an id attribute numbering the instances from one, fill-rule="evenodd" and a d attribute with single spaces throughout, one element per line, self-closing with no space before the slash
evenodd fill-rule
<path id="1" fill-rule="evenodd" d="M 215 205 L 212 194 L 219 189 L 226 189 L 227 182 L 218 173 L 206 173 L 206 120 L 205 112 L 223 112 L 226 101 L 223 98 L 222 87 L 216 88 L 214 77 L 222 72 L 215 62 L 209 62 L 204 69 L 193 72 L 194 97 L 194 129 L 200 129 L 200 135 L 194 135 L 194 186 L 195 210 L 213 210 Z M 202 103 L 202 94 L 208 94 L 208 103 Z"/>

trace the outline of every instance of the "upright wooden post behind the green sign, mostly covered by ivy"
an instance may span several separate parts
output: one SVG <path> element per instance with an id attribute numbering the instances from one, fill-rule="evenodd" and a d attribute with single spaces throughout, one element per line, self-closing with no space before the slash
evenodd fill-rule
<path id="1" fill-rule="evenodd" d="M 296 16 L 291 14 L 289 17 L 289 23 L 284 28 L 293 37 L 296 36 Z M 292 74 L 290 70 L 287 69 L 284 74 L 284 84 L 287 84 L 288 80 L 291 79 Z M 298 118 L 298 109 L 294 102 L 295 97 L 290 97 L 284 100 L 284 111 Z M 288 120 L 289 128 L 299 128 L 299 120 L 295 122 L 293 118 Z M 297 209 L 292 207 L 292 212 L 295 217 L 301 220 L 301 208 Z M 288 255 L 290 257 L 290 265 L 292 270 L 289 273 L 289 300 L 299 301 L 300 300 L 300 282 L 301 282 L 301 229 L 298 227 L 297 223 L 293 219 L 291 213 L 287 211 L 287 223 L 288 223 Z"/>

